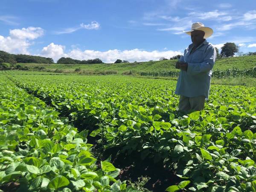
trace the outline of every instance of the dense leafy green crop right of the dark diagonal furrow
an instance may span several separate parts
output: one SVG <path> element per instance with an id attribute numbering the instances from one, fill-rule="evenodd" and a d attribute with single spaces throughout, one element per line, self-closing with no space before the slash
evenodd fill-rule
<path id="1" fill-rule="evenodd" d="M 17 75 L 12 80 L 89 129 L 105 148 L 139 151 L 140 158 L 174 169 L 184 181 L 167 191 L 256 191 L 256 88 L 212 86 L 205 110 L 181 114 L 175 81 Z"/>

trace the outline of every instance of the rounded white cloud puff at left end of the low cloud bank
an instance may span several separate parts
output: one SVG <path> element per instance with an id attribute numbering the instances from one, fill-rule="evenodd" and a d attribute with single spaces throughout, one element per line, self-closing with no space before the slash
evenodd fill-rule
<path id="1" fill-rule="evenodd" d="M 54 43 L 49 44 L 47 47 L 44 47 L 41 51 L 41 55 L 49 58 L 53 58 L 57 61 L 64 55 L 65 46 L 56 45 Z"/>

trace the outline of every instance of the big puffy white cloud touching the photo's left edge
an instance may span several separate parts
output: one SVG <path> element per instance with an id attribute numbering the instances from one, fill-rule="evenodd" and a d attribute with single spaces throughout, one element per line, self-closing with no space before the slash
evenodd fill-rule
<path id="1" fill-rule="evenodd" d="M 0 35 L 0 50 L 10 53 L 29 54 L 28 47 L 33 44 L 31 40 L 44 35 L 40 27 L 28 27 L 10 30 L 9 36 Z"/>

